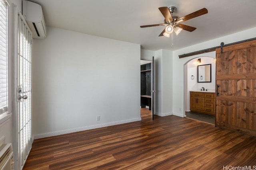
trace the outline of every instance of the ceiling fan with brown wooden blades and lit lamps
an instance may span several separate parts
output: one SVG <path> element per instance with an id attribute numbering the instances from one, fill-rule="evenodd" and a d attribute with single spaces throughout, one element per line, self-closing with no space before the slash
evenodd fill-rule
<path id="1" fill-rule="evenodd" d="M 196 29 L 196 27 L 184 25 L 184 24 L 181 24 L 181 22 L 190 20 L 192 18 L 208 13 L 208 10 L 206 8 L 202 8 L 201 10 L 198 10 L 196 12 L 193 12 L 191 14 L 188 14 L 186 16 L 179 18 L 178 16 L 175 16 L 172 14 L 176 10 L 175 6 L 171 6 L 169 8 L 164 6 L 158 9 L 164 16 L 164 23 L 153 24 L 153 25 L 141 25 L 140 27 L 144 28 L 144 27 L 154 27 L 154 26 L 165 25 L 166 26 L 165 29 L 158 36 L 164 35 L 165 37 L 170 37 L 170 34 L 171 34 L 172 38 L 173 38 L 173 35 L 172 35 L 173 31 L 176 33 L 176 35 L 178 35 L 182 29 L 190 32 Z"/>

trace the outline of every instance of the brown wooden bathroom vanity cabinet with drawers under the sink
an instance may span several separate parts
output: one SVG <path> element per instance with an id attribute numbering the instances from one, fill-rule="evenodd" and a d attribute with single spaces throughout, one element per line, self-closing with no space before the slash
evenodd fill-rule
<path id="1" fill-rule="evenodd" d="M 190 110 L 215 115 L 215 93 L 190 92 Z"/>

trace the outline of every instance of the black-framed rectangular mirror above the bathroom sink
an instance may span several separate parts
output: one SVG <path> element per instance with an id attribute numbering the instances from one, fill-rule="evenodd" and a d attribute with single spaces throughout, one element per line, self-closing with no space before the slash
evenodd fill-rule
<path id="1" fill-rule="evenodd" d="M 212 64 L 197 66 L 197 82 L 212 82 Z"/>

